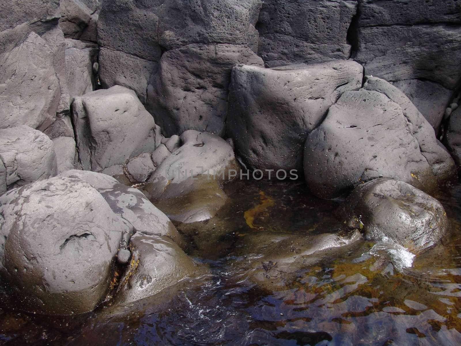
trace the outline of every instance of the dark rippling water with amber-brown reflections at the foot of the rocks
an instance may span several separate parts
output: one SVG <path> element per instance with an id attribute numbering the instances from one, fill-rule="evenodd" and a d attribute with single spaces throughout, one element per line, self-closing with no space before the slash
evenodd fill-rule
<path id="1" fill-rule="evenodd" d="M 231 202 L 215 218 L 178 225 L 207 275 L 123 311 L 43 317 L 2 310 L 0 343 L 461 344 L 461 185 L 437 196 L 452 221 L 444 244 L 405 258 L 402 249 L 361 242 L 299 268 L 277 290 L 255 285 L 244 263 L 257 261 L 255 251 L 271 241 L 337 232 L 336 204 L 308 195 L 300 183 L 239 181 L 225 191 Z"/>

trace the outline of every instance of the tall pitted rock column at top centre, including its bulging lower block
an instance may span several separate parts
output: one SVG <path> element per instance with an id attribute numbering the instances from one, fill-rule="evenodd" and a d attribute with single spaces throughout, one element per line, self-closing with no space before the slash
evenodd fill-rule
<path id="1" fill-rule="evenodd" d="M 254 54 L 260 6 L 260 0 L 103 1 L 102 84 L 135 90 L 166 136 L 189 129 L 222 135 L 232 67 L 262 65 Z M 114 73 L 122 70 L 123 76 Z"/>

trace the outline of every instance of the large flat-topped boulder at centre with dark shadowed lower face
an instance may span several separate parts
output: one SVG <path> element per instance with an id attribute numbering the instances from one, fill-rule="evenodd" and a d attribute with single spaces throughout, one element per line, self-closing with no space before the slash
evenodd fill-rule
<path id="1" fill-rule="evenodd" d="M 360 89 L 362 78 L 353 61 L 234 67 L 227 134 L 237 154 L 251 168 L 301 171 L 307 135 L 343 92 Z"/>

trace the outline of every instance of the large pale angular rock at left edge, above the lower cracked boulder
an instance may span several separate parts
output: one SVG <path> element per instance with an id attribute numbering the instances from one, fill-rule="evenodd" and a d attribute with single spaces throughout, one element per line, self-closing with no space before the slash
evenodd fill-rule
<path id="1" fill-rule="evenodd" d="M 56 118 L 61 92 L 53 50 L 31 32 L 0 54 L 0 127 L 28 125 L 44 130 Z"/>

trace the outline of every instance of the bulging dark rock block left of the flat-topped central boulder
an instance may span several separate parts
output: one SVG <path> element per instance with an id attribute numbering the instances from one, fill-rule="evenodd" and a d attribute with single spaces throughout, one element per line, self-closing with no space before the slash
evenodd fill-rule
<path id="1" fill-rule="evenodd" d="M 245 46 L 191 44 L 163 54 L 148 86 L 148 110 L 165 136 L 186 130 L 224 135 L 231 70 L 262 66 Z"/>

